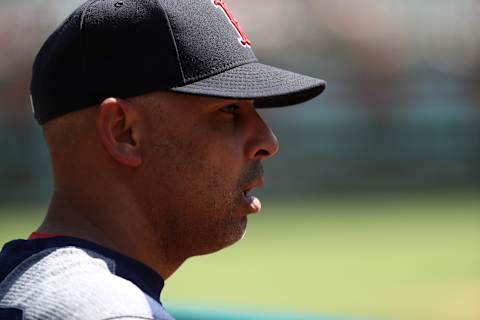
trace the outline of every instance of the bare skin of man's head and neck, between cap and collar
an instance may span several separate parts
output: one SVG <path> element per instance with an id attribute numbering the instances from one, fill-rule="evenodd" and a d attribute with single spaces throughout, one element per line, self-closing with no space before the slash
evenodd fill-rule
<path id="1" fill-rule="evenodd" d="M 38 232 L 117 250 L 168 278 L 229 246 L 278 141 L 250 100 L 154 92 L 49 121 L 54 193 Z"/>

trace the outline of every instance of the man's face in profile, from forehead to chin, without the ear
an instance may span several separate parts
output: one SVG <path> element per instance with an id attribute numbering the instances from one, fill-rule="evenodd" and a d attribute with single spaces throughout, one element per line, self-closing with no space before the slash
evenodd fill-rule
<path id="1" fill-rule="evenodd" d="M 253 102 L 169 92 L 133 101 L 146 111 L 138 185 L 167 254 L 238 241 L 260 210 L 248 191 L 263 184 L 261 162 L 278 150 Z"/>

